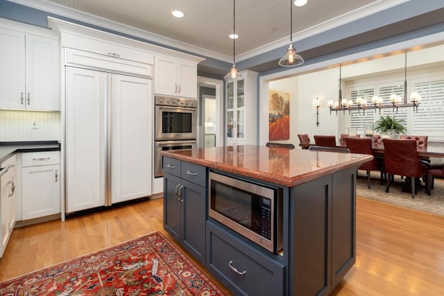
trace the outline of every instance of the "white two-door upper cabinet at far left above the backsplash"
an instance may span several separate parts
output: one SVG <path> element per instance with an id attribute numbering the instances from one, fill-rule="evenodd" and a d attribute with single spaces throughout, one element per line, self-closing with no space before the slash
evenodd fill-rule
<path id="1" fill-rule="evenodd" d="M 58 40 L 0 28 L 0 108 L 60 110 Z"/>

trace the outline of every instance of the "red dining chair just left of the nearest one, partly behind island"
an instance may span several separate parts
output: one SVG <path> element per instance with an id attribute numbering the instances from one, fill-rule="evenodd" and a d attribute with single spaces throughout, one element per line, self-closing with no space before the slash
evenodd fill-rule
<path id="1" fill-rule="evenodd" d="M 370 162 L 366 162 L 365 164 L 361 164 L 359 166 L 359 170 L 367 171 L 367 185 L 368 189 L 370 189 L 370 171 L 383 171 L 384 164 L 377 159 L 373 153 L 372 149 L 372 139 L 370 138 L 351 138 L 346 137 L 345 144 L 348 149 L 350 149 L 351 153 L 359 153 L 359 154 L 368 154 L 373 155 L 373 159 Z M 381 174 L 382 177 L 382 174 Z"/>

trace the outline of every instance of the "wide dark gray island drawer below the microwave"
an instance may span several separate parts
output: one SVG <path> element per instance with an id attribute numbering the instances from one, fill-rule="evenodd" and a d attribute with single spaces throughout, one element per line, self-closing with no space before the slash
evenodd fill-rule
<path id="1" fill-rule="evenodd" d="M 234 295 L 284 295 L 284 264 L 211 220 L 207 220 L 206 267 Z"/>

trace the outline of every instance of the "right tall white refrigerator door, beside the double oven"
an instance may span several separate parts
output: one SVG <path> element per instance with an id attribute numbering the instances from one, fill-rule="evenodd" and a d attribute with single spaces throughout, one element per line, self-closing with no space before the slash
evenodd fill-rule
<path id="1" fill-rule="evenodd" d="M 112 202 L 151 195 L 153 150 L 152 81 L 111 76 Z"/>

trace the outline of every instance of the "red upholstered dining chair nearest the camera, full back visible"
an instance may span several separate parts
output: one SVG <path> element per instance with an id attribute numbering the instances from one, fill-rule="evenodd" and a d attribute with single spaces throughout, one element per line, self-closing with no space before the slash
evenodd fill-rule
<path id="1" fill-rule="evenodd" d="M 402 175 L 411 177 L 411 197 L 415 198 L 415 178 L 427 175 L 428 171 L 420 162 L 416 152 L 416 140 L 382 139 L 382 143 L 384 143 L 384 165 L 388 174 L 386 192 L 390 189 L 392 175 Z"/>

